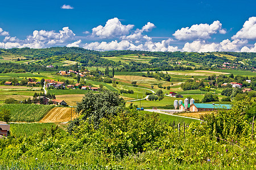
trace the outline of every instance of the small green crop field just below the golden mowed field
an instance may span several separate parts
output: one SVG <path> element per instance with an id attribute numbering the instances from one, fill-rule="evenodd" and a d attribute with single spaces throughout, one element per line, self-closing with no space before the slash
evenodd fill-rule
<path id="1" fill-rule="evenodd" d="M 52 126 L 56 126 L 53 123 L 46 124 L 10 124 L 10 133 L 16 138 L 28 137 L 37 133 L 40 133 L 44 129 L 51 129 Z"/>

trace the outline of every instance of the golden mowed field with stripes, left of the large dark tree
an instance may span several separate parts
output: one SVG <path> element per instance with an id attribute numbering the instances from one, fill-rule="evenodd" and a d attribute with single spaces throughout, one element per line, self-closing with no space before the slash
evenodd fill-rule
<path id="1" fill-rule="evenodd" d="M 75 108 L 72 108 L 72 120 L 78 115 L 75 112 Z M 53 123 L 53 122 L 68 122 L 71 121 L 71 108 L 53 108 L 49 111 L 40 123 Z"/>

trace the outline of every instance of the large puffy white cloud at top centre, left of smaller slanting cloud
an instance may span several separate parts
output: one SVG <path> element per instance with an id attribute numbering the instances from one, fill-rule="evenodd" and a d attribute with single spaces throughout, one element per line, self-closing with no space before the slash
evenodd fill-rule
<path id="1" fill-rule="evenodd" d="M 109 19 L 105 26 L 98 25 L 92 29 L 92 36 L 100 39 L 127 35 L 134 25 L 123 25 L 118 18 Z"/>

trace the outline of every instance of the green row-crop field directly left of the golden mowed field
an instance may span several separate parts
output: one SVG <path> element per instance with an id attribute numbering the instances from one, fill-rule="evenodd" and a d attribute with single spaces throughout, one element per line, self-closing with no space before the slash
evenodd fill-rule
<path id="1" fill-rule="evenodd" d="M 11 111 L 10 122 L 36 122 L 54 107 L 55 105 L 3 104 L 0 109 Z"/>

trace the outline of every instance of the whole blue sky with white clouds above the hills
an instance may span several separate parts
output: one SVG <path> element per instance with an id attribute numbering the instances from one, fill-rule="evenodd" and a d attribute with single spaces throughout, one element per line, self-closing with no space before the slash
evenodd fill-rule
<path id="1" fill-rule="evenodd" d="M 256 52 L 255 6 L 229 0 L 10 0 L 0 5 L 0 48 Z"/>

